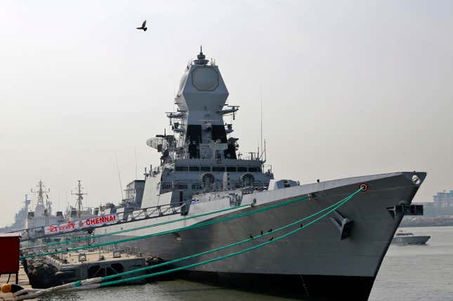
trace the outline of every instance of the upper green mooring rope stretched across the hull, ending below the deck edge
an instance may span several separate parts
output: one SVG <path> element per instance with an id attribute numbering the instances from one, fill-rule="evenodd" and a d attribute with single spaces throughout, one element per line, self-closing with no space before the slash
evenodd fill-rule
<path id="1" fill-rule="evenodd" d="M 232 216 L 229 216 L 229 217 L 226 217 L 226 218 L 221 218 L 221 219 L 218 219 L 218 220 L 211 220 L 209 222 L 200 222 L 199 224 L 195 224 L 195 225 L 192 225 L 192 226 L 180 227 L 178 229 L 167 230 L 167 231 L 163 231 L 163 232 L 157 232 L 157 233 L 147 234 L 147 235 L 142 235 L 142 236 L 134 236 L 134 237 L 131 237 L 129 239 L 119 239 L 117 241 L 108 241 L 108 242 L 105 242 L 105 243 L 96 243 L 96 244 L 93 244 L 93 245 L 81 246 L 81 247 L 77 247 L 77 248 L 67 248 L 66 250 L 55 250 L 55 251 L 52 251 L 52 252 L 25 255 L 25 256 L 21 256 L 20 259 L 41 257 L 41 256 L 46 256 L 46 255 L 55 255 L 55 254 L 72 252 L 72 251 L 76 251 L 76 250 L 85 250 L 85 249 L 89 249 L 89 248 L 99 248 L 101 246 L 108 246 L 108 245 L 117 244 L 117 243 L 126 243 L 126 242 L 129 242 L 129 241 L 137 241 L 137 240 L 140 240 L 140 239 L 148 239 L 150 237 L 160 236 L 160 235 L 164 235 L 164 234 L 170 234 L 170 233 L 173 233 L 173 232 L 185 231 L 185 230 L 188 230 L 188 229 L 196 229 L 196 228 L 199 228 L 199 227 L 204 227 L 204 226 L 207 226 L 207 225 L 216 224 L 218 222 L 225 222 L 225 221 L 228 221 L 228 220 L 234 220 L 236 218 L 242 218 L 244 216 L 265 212 L 265 211 L 272 210 L 272 209 L 275 209 L 275 208 L 279 208 L 279 207 L 282 207 L 282 206 L 287 206 L 287 205 L 289 205 L 291 203 L 296 203 L 298 201 L 303 201 L 305 199 L 308 199 L 308 197 L 309 196 L 303 196 L 303 197 L 298 198 L 298 199 L 292 199 L 290 201 L 285 201 L 283 203 L 278 203 L 278 204 L 273 205 L 273 206 L 260 208 L 260 209 L 257 209 L 257 210 L 251 211 L 251 212 L 240 213 L 238 215 L 232 215 Z M 250 205 L 244 205 L 244 206 L 250 206 Z"/>

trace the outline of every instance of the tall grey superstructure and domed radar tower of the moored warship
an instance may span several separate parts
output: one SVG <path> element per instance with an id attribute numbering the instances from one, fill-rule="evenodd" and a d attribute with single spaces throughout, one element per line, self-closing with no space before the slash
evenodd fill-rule
<path id="1" fill-rule="evenodd" d="M 227 98 L 214 60 L 206 60 L 200 51 L 180 79 L 177 111 L 166 114 L 173 135 L 164 133 L 147 140 L 162 156 L 160 165 L 146 173 L 142 206 L 162 201 L 181 204 L 206 192 L 268 187 L 273 173 L 270 169 L 263 172 L 262 156 L 258 152 L 247 158 L 237 155 L 238 138 L 230 135 L 232 124 L 225 123 L 223 116 L 235 114 L 239 106 L 225 105 Z"/>

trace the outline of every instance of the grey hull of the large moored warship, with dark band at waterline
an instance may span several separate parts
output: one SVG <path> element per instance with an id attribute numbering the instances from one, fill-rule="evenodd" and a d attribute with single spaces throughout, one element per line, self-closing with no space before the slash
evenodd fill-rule
<path id="1" fill-rule="evenodd" d="M 421 181 L 415 184 L 411 180 L 413 174 L 369 175 L 249 194 L 244 196 L 242 203 L 249 203 L 254 198 L 257 199 L 256 207 L 247 207 L 207 220 L 271 206 L 308 193 L 315 193 L 316 197 L 314 200 L 291 203 L 237 220 L 186 230 L 179 232 L 178 235 L 167 234 L 152 239 L 131 241 L 128 245 L 138 246 L 143 253 L 157 255 L 164 260 L 173 260 L 241 241 L 247 239 L 250 234 L 258 235 L 261 231 L 276 229 L 300 220 L 350 195 L 365 182 L 369 185 L 369 190 L 360 192 L 337 210 L 343 217 L 353 220 L 353 228 L 348 238 L 341 239 L 339 229 L 329 218 L 324 218 L 286 239 L 248 253 L 212 262 L 209 265 L 194 267 L 187 273 L 192 276 L 205 274 L 211 281 L 218 279 L 219 282 L 235 283 L 239 286 L 244 284 L 242 281 L 244 279 L 247 279 L 245 283 L 251 283 L 254 279 L 257 283 L 266 283 L 266 281 L 274 284 L 291 283 L 291 287 L 299 290 L 304 297 L 367 300 L 383 256 L 403 216 L 391 214 L 389 208 L 394 208 L 402 202 L 411 203 L 426 176 L 425 173 L 417 173 Z M 215 203 L 216 201 L 211 201 L 191 206 L 189 215 L 218 208 Z M 126 232 L 128 236 L 121 236 L 121 238 L 175 229 L 205 221 L 206 219 L 195 222 L 176 222 L 171 224 L 171 227 Z M 158 221 L 152 220 L 150 223 L 155 222 Z M 135 222 L 130 224 L 129 227 L 143 225 L 134 225 Z M 115 227 L 117 226 L 105 231 L 115 231 L 117 230 Z M 275 236 L 282 234 L 284 232 L 275 233 Z M 108 239 L 119 239 L 119 236 L 110 236 Z M 256 239 L 215 254 L 180 262 L 178 265 L 183 266 L 218 257 L 267 240 L 268 238 Z"/>

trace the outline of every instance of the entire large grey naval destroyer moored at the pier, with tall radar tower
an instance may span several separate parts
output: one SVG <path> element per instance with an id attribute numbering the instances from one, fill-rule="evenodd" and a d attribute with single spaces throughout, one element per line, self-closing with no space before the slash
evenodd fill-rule
<path id="1" fill-rule="evenodd" d="M 178 229 L 308 194 L 313 196 L 309 201 L 291 203 L 243 218 L 129 242 L 145 254 L 173 260 L 288 225 L 343 199 L 362 185 L 366 191 L 357 194 L 353 201 L 336 210 L 330 218 L 263 248 L 192 267 L 185 275 L 191 279 L 209 279 L 238 286 L 251 283 L 291 286 L 310 298 L 367 300 L 403 215 L 416 214 L 415 211 L 419 210 L 411 202 L 426 173 L 394 172 L 306 185 L 295 180 L 277 180 L 260 152 L 249 153 L 249 156 L 238 152 L 238 138 L 232 136 L 232 124 L 223 119 L 232 115 L 234 120 L 238 106 L 227 105 L 227 98 L 228 89 L 218 66 L 200 51 L 196 59 L 190 60 L 180 79 L 175 98 L 178 109 L 166 113 L 173 133 L 156 135 L 146 142 L 162 155 L 160 163 L 145 170 L 145 180 L 128 185 L 130 195 L 127 203 L 123 201 L 119 206 L 96 210 L 99 210 L 99 215 L 108 215 L 125 214 L 127 210 L 137 208 L 145 212 L 145 208 L 155 206 L 185 206 L 183 215 L 190 217 L 238 204 L 254 202 L 256 205 L 106 236 L 103 240 Z M 180 218 L 180 214 L 162 215 L 157 219 L 98 228 L 95 234 Z M 245 247 L 229 248 L 216 256 L 242 248 Z M 204 255 L 179 265 L 211 257 Z"/>

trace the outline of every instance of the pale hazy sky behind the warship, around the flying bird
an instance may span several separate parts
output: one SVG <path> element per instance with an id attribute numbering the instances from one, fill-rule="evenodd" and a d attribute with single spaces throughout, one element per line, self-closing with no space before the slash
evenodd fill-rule
<path id="1" fill-rule="evenodd" d="M 135 29 L 143 20 L 148 31 Z M 0 226 L 44 180 L 121 199 L 159 156 L 174 86 L 203 45 L 263 133 L 275 178 L 425 170 L 415 201 L 453 189 L 453 1 L 0 1 Z M 34 200 L 34 196 L 32 197 Z"/>

